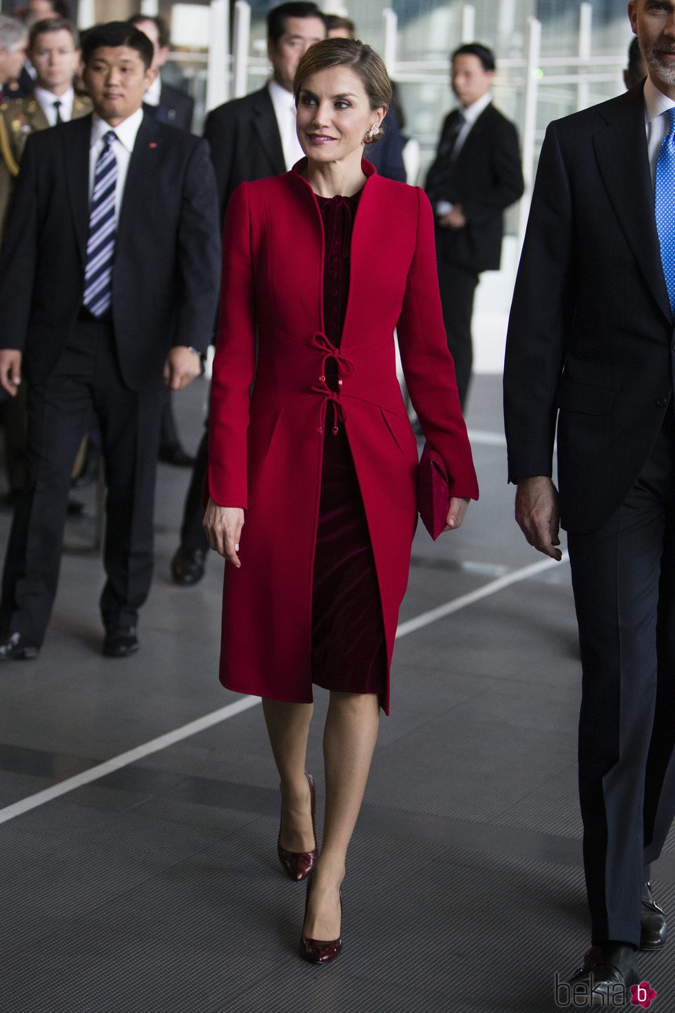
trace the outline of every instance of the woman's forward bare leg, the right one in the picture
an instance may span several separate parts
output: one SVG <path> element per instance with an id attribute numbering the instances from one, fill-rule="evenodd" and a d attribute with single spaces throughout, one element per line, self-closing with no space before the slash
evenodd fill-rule
<path id="1" fill-rule="evenodd" d="M 340 883 L 377 741 L 379 700 L 374 693 L 331 693 L 324 729 L 326 814 L 303 935 L 340 935 Z"/>

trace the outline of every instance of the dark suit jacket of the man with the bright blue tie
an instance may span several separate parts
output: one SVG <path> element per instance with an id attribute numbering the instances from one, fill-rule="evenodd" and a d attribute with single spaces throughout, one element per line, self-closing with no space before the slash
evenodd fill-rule
<path id="1" fill-rule="evenodd" d="M 551 475 L 561 515 L 599 527 L 640 475 L 672 394 L 643 84 L 551 124 L 509 323 L 509 477 Z"/>

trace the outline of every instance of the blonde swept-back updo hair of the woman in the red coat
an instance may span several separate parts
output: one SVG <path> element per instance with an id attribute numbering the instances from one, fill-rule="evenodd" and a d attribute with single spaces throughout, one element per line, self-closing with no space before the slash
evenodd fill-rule
<path id="1" fill-rule="evenodd" d="M 385 114 L 392 101 L 392 82 L 382 57 L 358 38 L 322 38 L 311 46 L 296 71 L 293 96 L 296 105 L 305 83 L 322 70 L 330 67 L 348 67 L 357 77 L 368 96 L 371 109 L 385 108 Z M 368 135 L 366 144 L 372 144 L 384 137 L 382 126 L 376 134 Z"/>

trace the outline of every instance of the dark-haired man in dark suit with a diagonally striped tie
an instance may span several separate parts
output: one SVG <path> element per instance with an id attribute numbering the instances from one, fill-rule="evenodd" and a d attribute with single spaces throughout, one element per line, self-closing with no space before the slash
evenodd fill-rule
<path id="1" fill-rule="evenodd" d="M 0 659 L 34 656 L 57 590 L 73 461 L 94 418 L 108 485 L 104 653 L 138 648 L 153 567 L 162 379 L 200 372 L 220 281 L 207 146 L 144 115 L 152 45 L 126 22 L 83 45 L 92 116 L 31 135 L 0 257 L 0 384 L 28 389 L 24 492 L 0 601 Z"/>

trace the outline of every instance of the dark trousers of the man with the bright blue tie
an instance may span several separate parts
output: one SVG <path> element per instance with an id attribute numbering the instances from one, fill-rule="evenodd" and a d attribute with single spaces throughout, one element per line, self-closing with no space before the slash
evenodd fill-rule
<path id="1" fill-rule="evenodd" d="M 591 534 L 569 534 L 583 692 L 579 789 L 593 943 L 640 942 L 675 815 L 675 421 Z"/>

